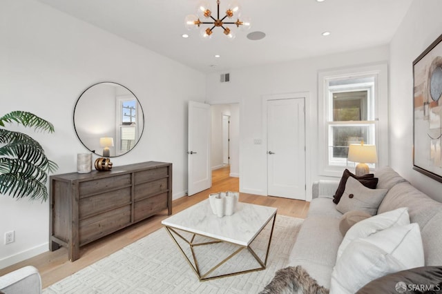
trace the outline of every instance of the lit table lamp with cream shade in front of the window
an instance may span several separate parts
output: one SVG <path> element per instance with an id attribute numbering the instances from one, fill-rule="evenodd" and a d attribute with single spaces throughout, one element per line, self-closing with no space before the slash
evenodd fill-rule
<path id="1" fill-rule="evenodd" d="M 365 145 L 364 141 L 361 144 L 351 144 L 348 150 L 348 160 L 358 162 L 356 166 L 356 175 L 367 175 L 369 168 L 367 164 L 374 164 L 378 161 L 376 155 L 376 145 Z"/>

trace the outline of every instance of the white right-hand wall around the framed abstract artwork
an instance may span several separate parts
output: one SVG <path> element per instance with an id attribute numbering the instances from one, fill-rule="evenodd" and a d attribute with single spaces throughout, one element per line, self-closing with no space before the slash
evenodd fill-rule
<path id="1" fill-rule="evenodd" d="M 416 188 L 442 201 L 442 184 L 413 170 L 413 61 L 442 33 L 442 1 L 414 0 L 390 46 L 390 160 Z"/>

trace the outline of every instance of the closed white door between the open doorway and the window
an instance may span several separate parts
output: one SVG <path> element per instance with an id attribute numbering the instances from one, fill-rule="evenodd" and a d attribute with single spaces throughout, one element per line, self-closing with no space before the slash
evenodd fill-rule
<path id="1" fill-rule="evenodd" d="M 267 193 L 305 200 L 304 98 L 267 101 Z"/>

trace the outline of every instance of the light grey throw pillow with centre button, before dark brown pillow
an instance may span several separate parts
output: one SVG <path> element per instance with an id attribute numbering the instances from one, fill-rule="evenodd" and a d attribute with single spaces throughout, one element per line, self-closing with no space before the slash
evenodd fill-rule
<path id="1" fill-rule="evenodd" d="M 347 184 L 345 184 L 343 197 L 340 198 L 336 209 L 340 213 L 347 213 L 350 210 L 363 210 L 369 215 L 376 215 L 379 204 L 381 204 L 387 192 L 387 189 L 367 188 L 357 179 L 349 177 Z"/>

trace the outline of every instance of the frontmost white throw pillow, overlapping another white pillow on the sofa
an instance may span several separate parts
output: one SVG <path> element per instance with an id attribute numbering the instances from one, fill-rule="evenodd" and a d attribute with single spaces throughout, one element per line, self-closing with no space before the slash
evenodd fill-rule
<path id="1" fill-rule="evenodd" d="M 330 293 L 356 293 L 378 277 L 423 265 L 419 225 L 387 228 L 347 246 L 333 268 Z"/>

